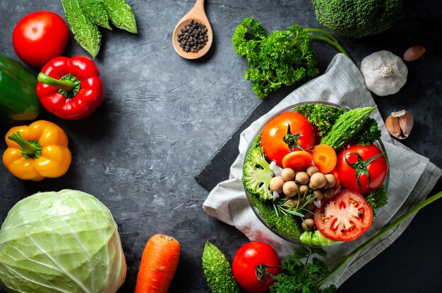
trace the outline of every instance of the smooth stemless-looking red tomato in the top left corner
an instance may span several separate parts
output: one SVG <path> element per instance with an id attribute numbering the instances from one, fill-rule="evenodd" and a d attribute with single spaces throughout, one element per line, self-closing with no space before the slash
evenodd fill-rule
<path id="1" fill-rule="evenodd" d="M 12 44 L 17 56 L 35 68 L 42 68 L 52 58 L 61 56 L 68 39 L 68 25 L 51 11 L 26 15 L 12 33 Z"/>

